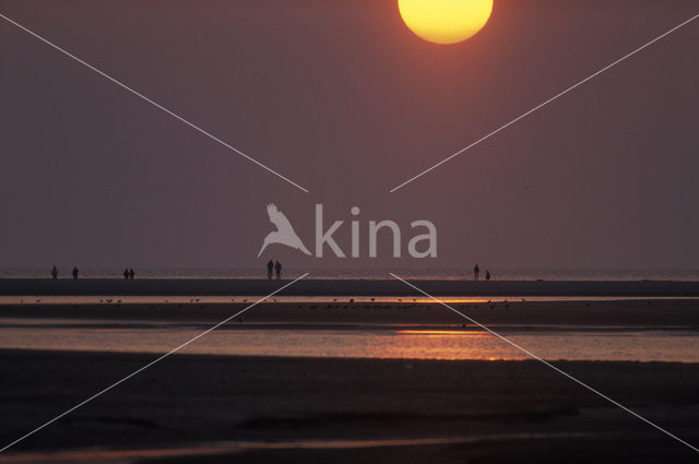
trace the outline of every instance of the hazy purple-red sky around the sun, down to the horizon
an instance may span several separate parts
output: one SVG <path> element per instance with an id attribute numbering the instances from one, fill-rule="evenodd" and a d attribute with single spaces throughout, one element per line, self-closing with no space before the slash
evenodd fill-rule
<path id="1" fill-rule="evenodd" d="M 697 1 L 496 0 L 453 46 L 395 0 L 9 1 L 0 12 L 0 266 L 699 267 L 699 21 L 388 191 L 699 12 Z M 435 260 L 257 252 L 275 202 L 426 218 Z M 350 227 L 336 235 L 350 249 Z M 405 247 L 407 238 L 404 238 Z"/>

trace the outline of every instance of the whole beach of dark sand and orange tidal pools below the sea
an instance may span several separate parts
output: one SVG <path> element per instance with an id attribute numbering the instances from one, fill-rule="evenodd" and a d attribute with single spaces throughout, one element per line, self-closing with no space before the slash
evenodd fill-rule
<path id="1" fill-rule="evenodd" d="M 54 284 L 40 282 L 38 289 Z M 141 282 L 135 292 L 125 286 Z M 78 295 L 66 294 L 81 283 Z M 52 294 L 0 305 L 3 442 L 229 321 L 19 442 L 0 463 L 696 459 L 483 329 L 696 443 L 696 284 L 544 283 L 513 297 L 518 285 L 542 283 L 491 293 L 484 286 L 493 283 L 467 283 L 471 296 L 465 283 L 417 283 L 443 290 L 451 309 L 376 281 L 369 288 L 383 288 L 382 297 L 343 281 L 260 304 L 256 293 L 284 282 L 183 281 L 187 292 L 169 282 L 100 284 L 59 281 Z M 239 293 L 221 294 L 232 285 Z M 564 287 L 566 296 L 548 298 Z M 7 282 L 0 288 L 11 294 Z"/>

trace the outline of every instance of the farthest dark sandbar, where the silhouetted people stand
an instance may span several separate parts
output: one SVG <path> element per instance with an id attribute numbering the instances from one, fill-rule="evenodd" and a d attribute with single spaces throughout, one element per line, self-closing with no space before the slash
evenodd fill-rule
<path id="1" fill-rule="evenodd" d="M 134 279 L 2 278 L 2 295 L 268 295 L 291 281 L 266 279 Z M 627 296 L 699 297 L 699 282 L 640 281 L 414 281 L 434 296 Z M 288 296 L 411 296 L 406 284 L 387 279 L 313 279 L 312 275 L 284 289 Z"/>

